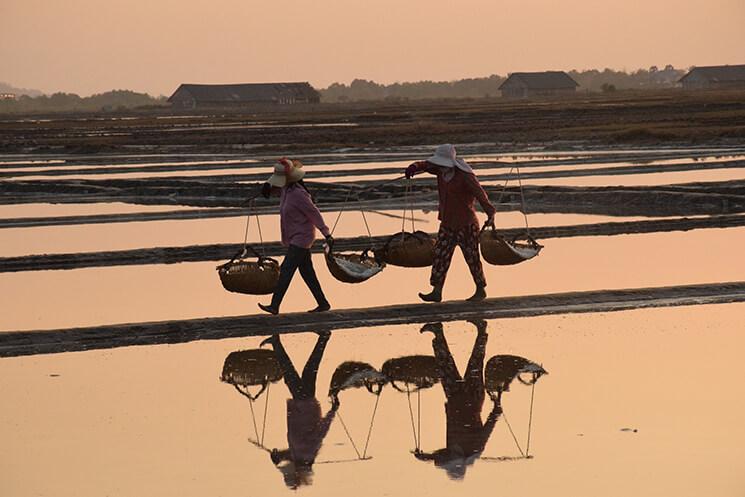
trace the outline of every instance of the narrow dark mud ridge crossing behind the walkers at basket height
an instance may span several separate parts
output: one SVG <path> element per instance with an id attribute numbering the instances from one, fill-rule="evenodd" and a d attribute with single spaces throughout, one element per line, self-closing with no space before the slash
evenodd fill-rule
<path id="1" fill-rule="evenodd" d="M 627 221 L 574 226 L 537 227 L 531 234 L 538 240 L 577 236 L 610 236 L 634 233 L 658 233 L 689 231 L 708 228 L 734 228 L 745 226 L 745 215 L 711 216 L 703 218 L 655 219 L 649 221 Z M 501 232 L 509 237 L 524 233 L 523 229 L 507 229 Z M 336 250 L 359 251 L 371 246 L 381 246 L 388 236 L 366 236 L 338 238 Z M 176 264 L 180 262 L 225 261 L 242 249 L 241 244 L 192 245 L 188 247 L 156 247 L 109 252 L 80 252 L 72 254 L 43 254 L 0 258 L 0 273 L 19 271 L 42 271 L 52 269 L 80 269 L 106 266 L 132 266 L 143 264 Z M 313 252 L 322 252 L 316 243 Z M 265 254 L 273 257 L 285 253 L 278 242 L 264 244 Z"/>

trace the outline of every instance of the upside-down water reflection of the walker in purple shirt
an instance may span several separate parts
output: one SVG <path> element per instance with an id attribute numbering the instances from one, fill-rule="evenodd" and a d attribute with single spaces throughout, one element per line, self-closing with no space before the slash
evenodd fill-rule
<path id="1" fill-rule="evenodd" d="M 262 345 L 272 345 L 284 372 L 285 384 L 292 394 L 292 398 L 287 400 L 288 448 L 272 449 L 270 455 L 272 462 L 282 472 L 285 484 L 293 489 L 313 482 L 313 463 L 339 409 L 338 397 L 333 396 L 331 409 L 322 416 L 321 404 L 316 399 L 318 367 L 331 337 L 328 331 L 317 333 L 318 340 L 305 363 L 302 375 L 295 370 L 279 335 L 273 335 L 262 342 Z"/>

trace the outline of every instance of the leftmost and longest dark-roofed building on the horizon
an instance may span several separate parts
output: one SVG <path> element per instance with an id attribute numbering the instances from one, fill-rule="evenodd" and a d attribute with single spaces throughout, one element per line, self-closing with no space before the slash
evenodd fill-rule
<path id="1" fill-rule="evenodd" d="M 240 107 L 318 103 L 320 94 L 309 83 L 182 84 L 168 102 L 174 108 Z"/>

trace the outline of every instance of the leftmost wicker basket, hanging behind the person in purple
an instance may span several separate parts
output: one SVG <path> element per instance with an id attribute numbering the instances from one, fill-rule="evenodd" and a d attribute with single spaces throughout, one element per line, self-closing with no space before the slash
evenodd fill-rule
<path id="1" fill-rule="evenodd" d="M 256 261 L 247 261 L 242 259 L 243 255 L 245 251 L 217 267 L 222 286 L 229 292 L 249 295 L 273 293 L 279 281 L 279 263 L 258 254 Z"/>

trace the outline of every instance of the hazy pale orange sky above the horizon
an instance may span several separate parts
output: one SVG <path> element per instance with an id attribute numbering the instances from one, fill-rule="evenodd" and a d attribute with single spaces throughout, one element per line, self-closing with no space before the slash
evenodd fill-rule
<path id="1" fill-rule="evenodd" d="M 738 64 L 743 26 L 743 0 L 0 0 L 0 81 L 168 95 L 181 82 Z"/>

